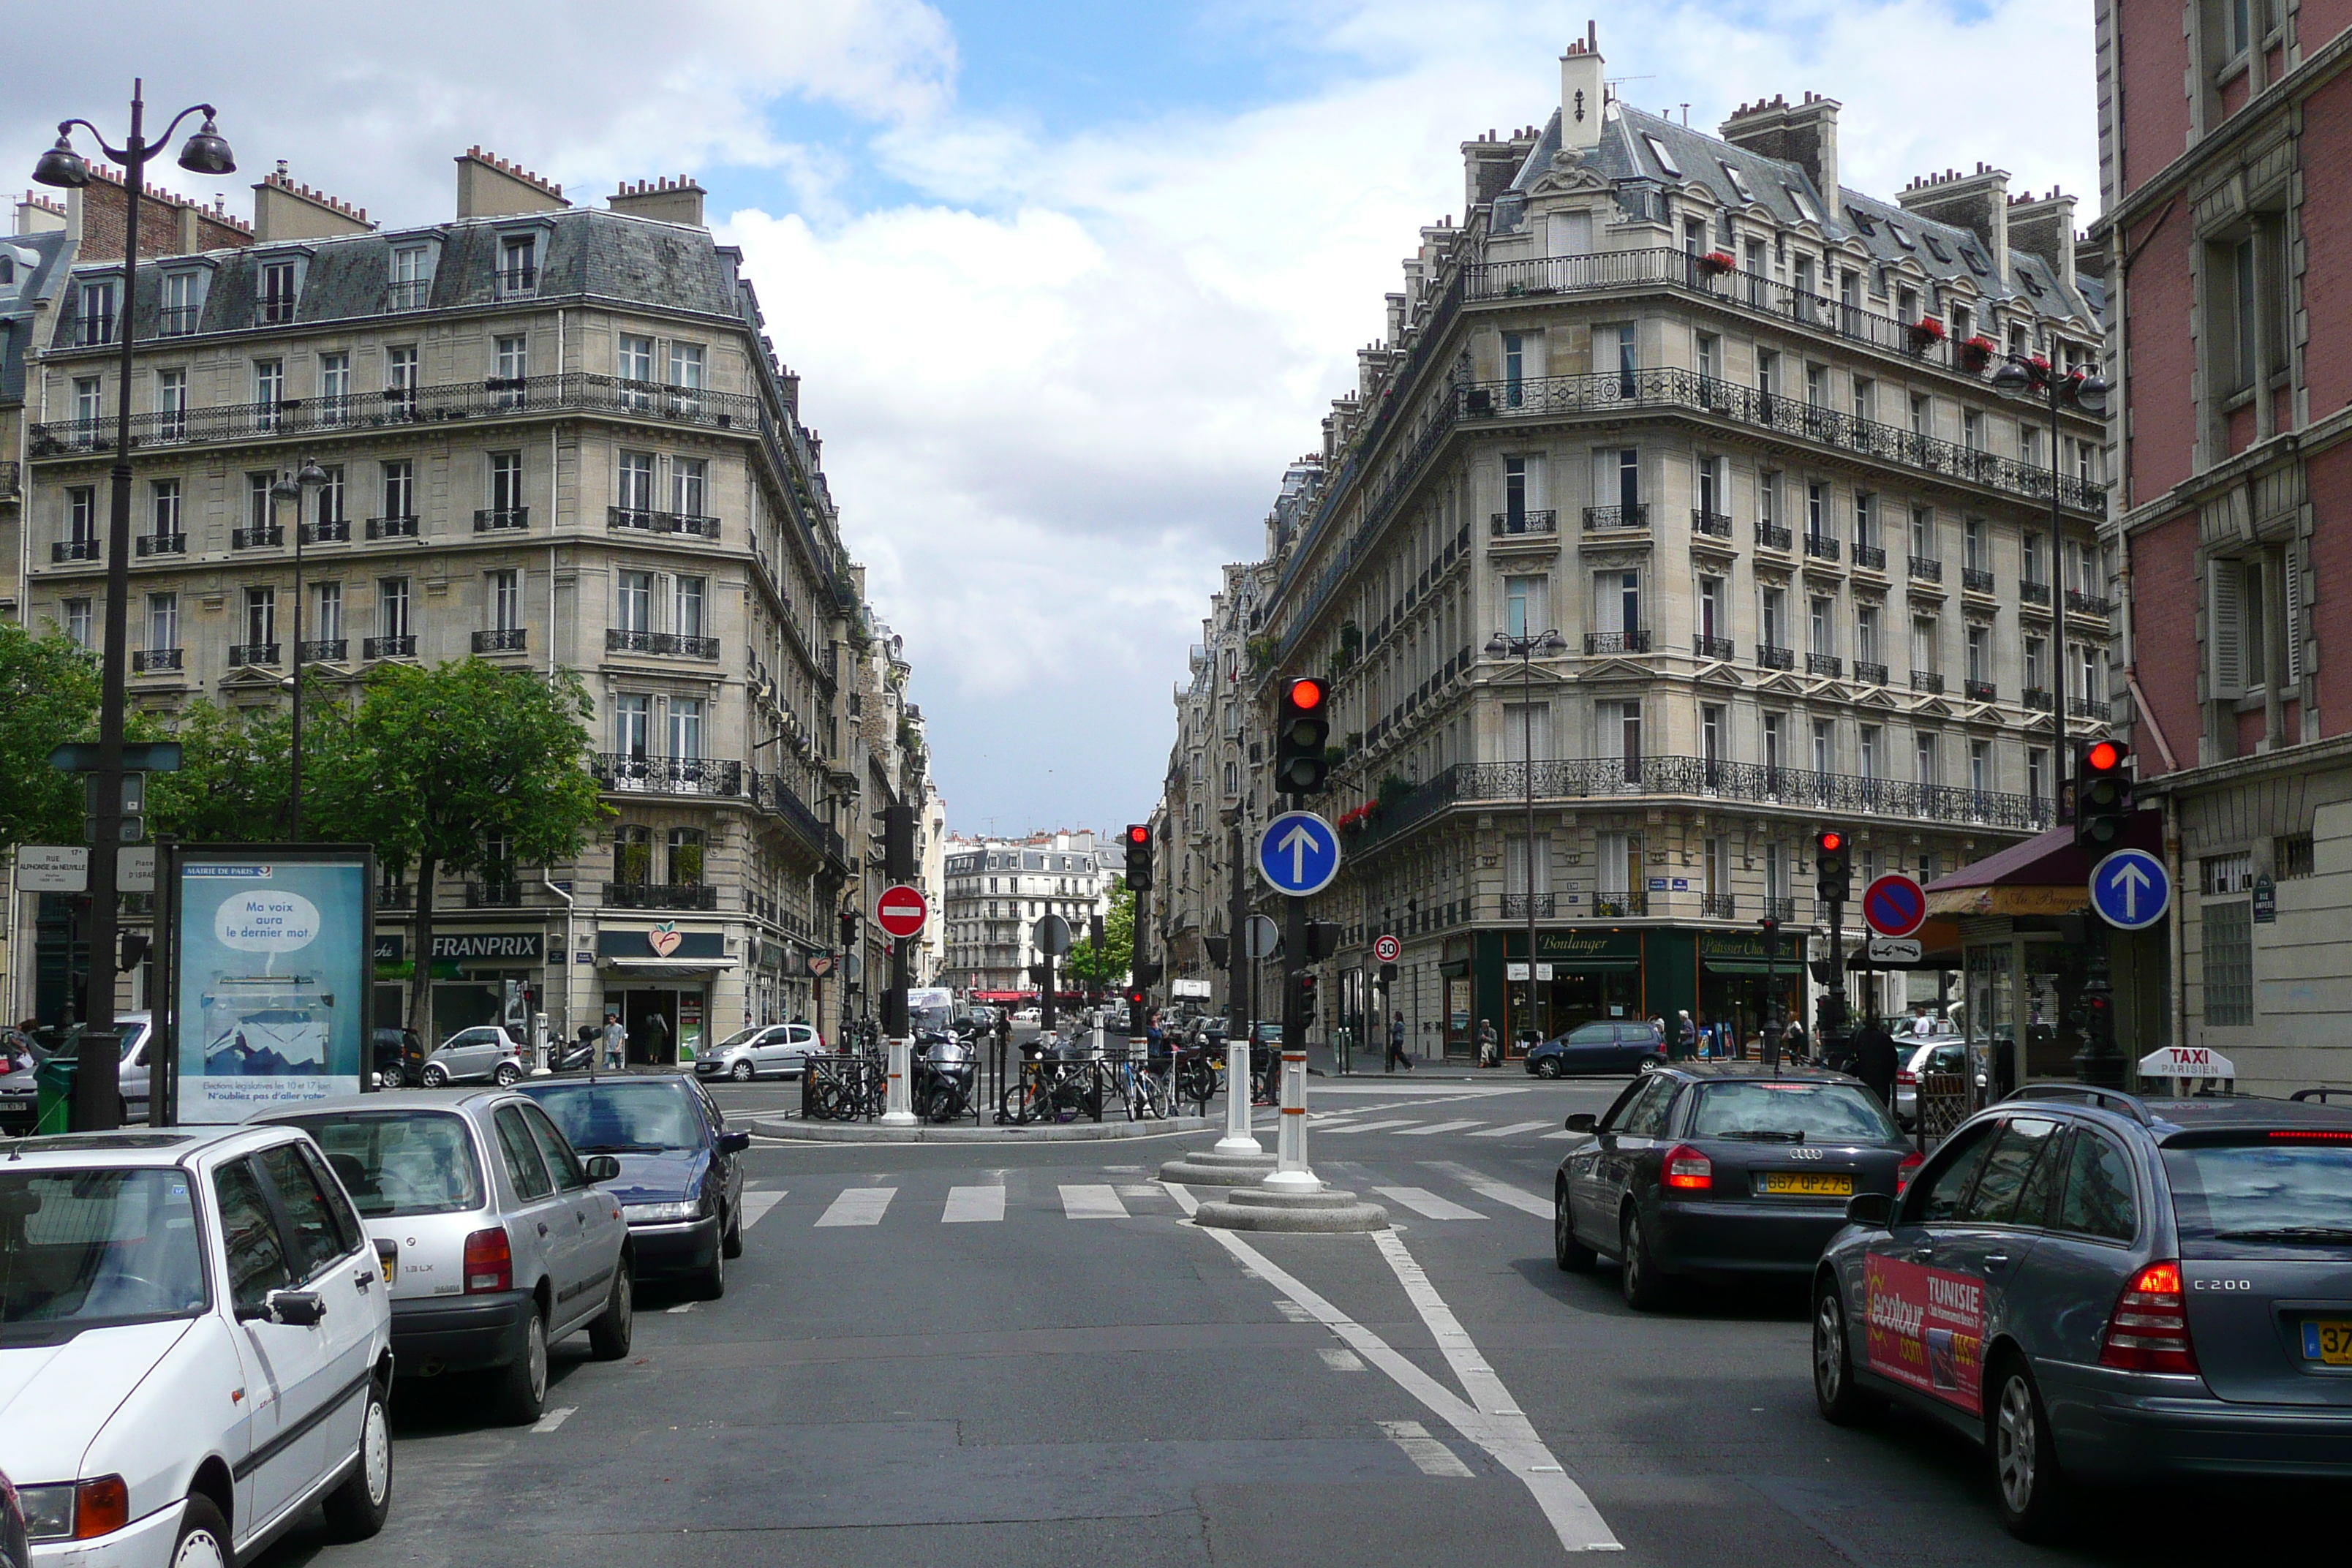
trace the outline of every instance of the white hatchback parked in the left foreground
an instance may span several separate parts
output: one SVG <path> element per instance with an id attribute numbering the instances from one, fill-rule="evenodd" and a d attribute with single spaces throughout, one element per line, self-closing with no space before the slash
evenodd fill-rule
<path id="1" fill-rule="evenodd" d="M 31 1138 L 0 1164 L 0 1472 L 35 1568 L 245 1561 L 393 1505 L 383 1262 L 292 1126 Z"/>

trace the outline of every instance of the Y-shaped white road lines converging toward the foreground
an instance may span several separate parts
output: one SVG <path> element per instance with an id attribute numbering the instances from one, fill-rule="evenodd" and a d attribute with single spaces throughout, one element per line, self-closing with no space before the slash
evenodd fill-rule
<path id="1" fill-rule="evenodd" d="M 1195 1199 L 1192 1192 L 1178 1182 L 1169 1182 L 1169 1194 L 1188 1215 L 1200 1208 L 1200 1199 Z M 1475 1389 L 1479 1394 L 1479 1403 L 1477 1406 L 1463 1403 L 1454 1394 L 1454 1389 L 1437 1382 L 1425 1371 L 1399 1356 L 1395 1349 L 1390 1349 L 1385 1340 L 1381 1340 L 1381 1335 L 1371 1333 L 1369 1328 L 1343 1314 L 1338 1307 L 1334 1307 L 1322 1295 L 1310 1291 L 1305 1284 L 1294 1279 L 1287 1269 L 1275 1265 L 1270 1258 L 1265 1258 L 1265 1253 L 1249 1246 L 1230 1229 L 1204 1229 L 1202 1234 L 1223 1246 L 1225 1253 L 1240 1267 L 1249 1269 L 1251 1274 L 1256 1274 L 1258 1279 L 1275 1286 L 1294 1302 L 1312 1312 L 1324 1324 L 1324 1328 L 1348 1340 L 1348 1345 L 1362 1359 L 1371 1361 L 1383 1373 L 1388 1373 L 1397 1382 L 1397 1387 L 1418 1399 L 1432 1415 L 1437 1415 L 1442 1422 L 1461 1432 L 1468 1441 L 1491 1453 L 1498 1462 L 1503 1462 L 1503 1467 L 1510 1474 L 1519 1476 L 1519 1483 L 1526 1486 L 1529 1493 L 1534 1493 L 1536 1505 L 1543 1509 L 1543 1516 L 1552 1523 L 1552 1533 L 1559 1535 L 1559 1544 L 1566 1552 L 1625 1549 L 1618 1542 L 1618 1537 L 1609 1533 L 1609 1523 L 1602 1519 L 1599 1509 L 1592 1507 L 1592 1500 L 1585 1497 L 1585 1490 L 1576 1486 L 1576 1481 L 1571 1481 L 1566 1472 L 1559 1472 L 1555 1479 L 1552 1467 L 1557 1465 L 1557 1460 L 1543 1446 L 1543 1439 L 1536 1436 L 1534 1425 L 1524 1415 L 1484 1413 L 1484 1410 L 1517 1408 L 1517 1401 L 1512 1401 L 1510 1392 L 1501 1387 L 1501 1380 L 1494 1375 L 1491 1368 L 1486 1368 L 1484 1363 L 1479 1366 L 1482 1382 Z M 1381 1255 L 1388 1258 L 1392 1269 L 1397 1269 L 1399 1258 L 1404 1260 L 1406 1267 L 1414 1267 L 1411 1253 L 1404 1251 L 1404 1237 L 1390 1229 L 1390 1232 L 1374 1232 L 1374 1239 L 1381 1244 Z M 1423 1276 L 1418 1267 L 1414 1267 L 1414 1276 L 1418 1279 L 1418 1286 L 1406 1281 L 1406 1295 L 1414 1295 L 1414 1305 L 1423 1309 L 1423 1321 L 1428 1321 L 1428 1307 L 1423 1307 L 1423 1300 L 1421 1295 L 1416 1295 L 1416 1288 L 1425 1293 L 1432 1302 L 1437 1302 L 1439 1312 L 1444 1312 L 1444 1300 L 1437 1298 L 1437 1291 L 1430 1286 L 1428 1276 Z M 1404 1279 L 1402 1269 L 1399 1279 Z M 1451 1312 L 1446 1312 L 1446 1319 L 1451 1321 Z M 1458 1324 L 1454 1326 L 1454 1333 L 1468 1345 L 1468 1335 L 1461 1335 Z M 1446 1340 L 1439 1338 L 1439 1345 L 1446 1345 Z M 1454 1349 L 1446 1352 L 1446 1359 L 1449 1361 L 1454 1359 Z M 1461 1375 L 1458 1366 L 1456 1375 Z M 1470 1387 L 1470 1382 L 1465 1380 L 1463 1387 Z"/>

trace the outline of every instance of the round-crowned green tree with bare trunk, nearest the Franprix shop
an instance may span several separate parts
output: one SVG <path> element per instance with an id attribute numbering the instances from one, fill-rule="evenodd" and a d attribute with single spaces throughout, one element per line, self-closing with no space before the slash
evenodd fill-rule
<path id="1" fill-rule="evenodd" d="M 569 860 L 609 816 L 588 776 L 588 689 L 579 675 L 501 670 L 480 658 L 379 665 L 320 769 L 320 825 L 416 872 L 409 1027 L 433 1032 L 433 882 L 477 872 L 489 839 L 510 865 Z"/>

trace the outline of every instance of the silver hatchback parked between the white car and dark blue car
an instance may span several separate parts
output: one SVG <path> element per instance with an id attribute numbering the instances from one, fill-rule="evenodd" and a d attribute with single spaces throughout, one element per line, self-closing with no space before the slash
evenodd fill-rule
<path id="1" fill-rule="evenodd" d="M 256 1121 L 292 1121 L 327 1152 L 393 1281 L 393 1363 L 405 1378 L 482 1373 L 492 1408 L 534 1422 L 548 1345 L 579 1328 L 600 1361 L 635 1324 L 628 1222 L 529 1098 L 503 1088 L 346 1095 Z"/>

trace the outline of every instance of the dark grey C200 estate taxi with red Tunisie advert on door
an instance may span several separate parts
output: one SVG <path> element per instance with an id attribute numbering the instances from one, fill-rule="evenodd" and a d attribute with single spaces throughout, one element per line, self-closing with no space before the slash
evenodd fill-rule
<path id="1" fill-rule="evenodd" d="M 1820 1413 L 1950 1422 L 2011 1533 L 2077 1483 L 2352 1476 L 2352 1107 L 2030 1084 L 1846 1220 Z"/>

